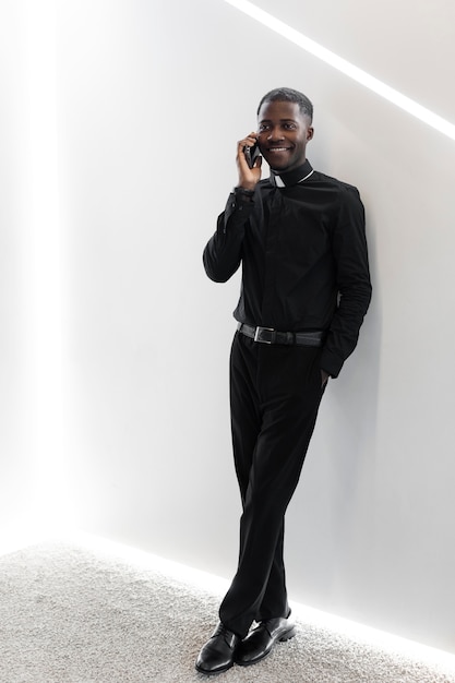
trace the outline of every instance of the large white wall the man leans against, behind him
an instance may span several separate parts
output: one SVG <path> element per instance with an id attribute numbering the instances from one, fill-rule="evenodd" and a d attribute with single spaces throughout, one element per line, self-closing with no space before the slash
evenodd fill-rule
<path id="1" fill-rule="evenodd" d="M 435 4 L 431 21 L 410 1 L 393 21 L 359 0 L 282 2 L 279 16 L 453 120 L 454 10 Z M 455 143 L 221 0 L 65 3 L 57 55 L 76 523 L 235 571 L 227 372 L 239 280 L 211 283 L 201 253 L 258 100 L 303 89 L 315 105 L 310 160 L 364 200 L 374 298 L 289 508 L 291 597 L 455 651 Z"/>

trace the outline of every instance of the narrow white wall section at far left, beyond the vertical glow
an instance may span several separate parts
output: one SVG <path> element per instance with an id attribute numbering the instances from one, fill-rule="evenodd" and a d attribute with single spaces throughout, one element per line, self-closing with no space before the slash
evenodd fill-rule
<path id="1" fill-rule="evenodd" d="M 33 490 L 27 70 L 21 2 L 0 4 L 0 538 Z"/>

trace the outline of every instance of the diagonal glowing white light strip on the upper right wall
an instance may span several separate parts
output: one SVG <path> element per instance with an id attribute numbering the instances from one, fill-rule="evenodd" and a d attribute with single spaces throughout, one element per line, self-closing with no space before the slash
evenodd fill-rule
<path id="1" fill-rule="evenodd" d="M 379 79 L 375 79 L 362 69 L 359 69 L 355 64 L 348 62 L 343 57 L 338 57 L 338 55 L 335 55 L 335 52 L 327 50 L 327 48 L 323 47 L 319 43 L 315 43 L 311 38 L 308 38 L 302 33 L 296 31 L 288 24 L 285 24 L 268 12 L 261 10 L 252 2 L 249 2 L 249 0 L 225 0 L 225 2 L 237 8 L 244 14 L 248 14 L 264 26 L 267 26 L 267 28 L 271 28 L 290 43 L 299 46 L 307 52 L 314 55 L 314 57 L 318 57 L 334 69 L 337 69 L 354 81 L 357 81 L 357 83 L 364 85 L 364 87 L 368 87 L 373 93 L 376 93 L 376 95 L 384 97 L 384 99 L 387 99 L 388 101 L 396 105 L 404 111 L 407 111 L 420 121 L 423 121 L 428 125 L 431 125 L 431 128 L 434 128 L 436 131 L 440 131 L 444 135 L 447 135 L 447 137 L 451 137 L 451 140 L 455 140 L 455 125 L 453 123 L 446 121 L 438 113 L 430 111 L 430 109 L 427 109 L 427 107 L 419 105 L 410 97 L 403 95 L 403 93 L 399 93 L 390 85 L 386 85 L 386 83 L 383 83 Z"/>

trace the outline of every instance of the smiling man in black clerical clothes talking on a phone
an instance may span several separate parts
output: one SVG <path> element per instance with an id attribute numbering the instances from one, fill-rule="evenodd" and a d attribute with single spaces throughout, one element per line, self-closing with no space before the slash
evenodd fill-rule
<path id="1" fill-rule="evenodd" d="M 196 669 L 253 664 L 295 635 L 283 561 L 284 517 L 328 378 L 356 347 L 371 284 L 356 188 L 312 169 L 313 107 L 277 88 L 258 132 L 238 143 L 239 181 L 204 251 L 208 277 L 242 264 L 230 357 L 232 445 L 243 513 L 237 574 Z M 261 180 L 258 145 L 271 167 Z M 258 625 L 250 631 L 253 621 Z"/>

